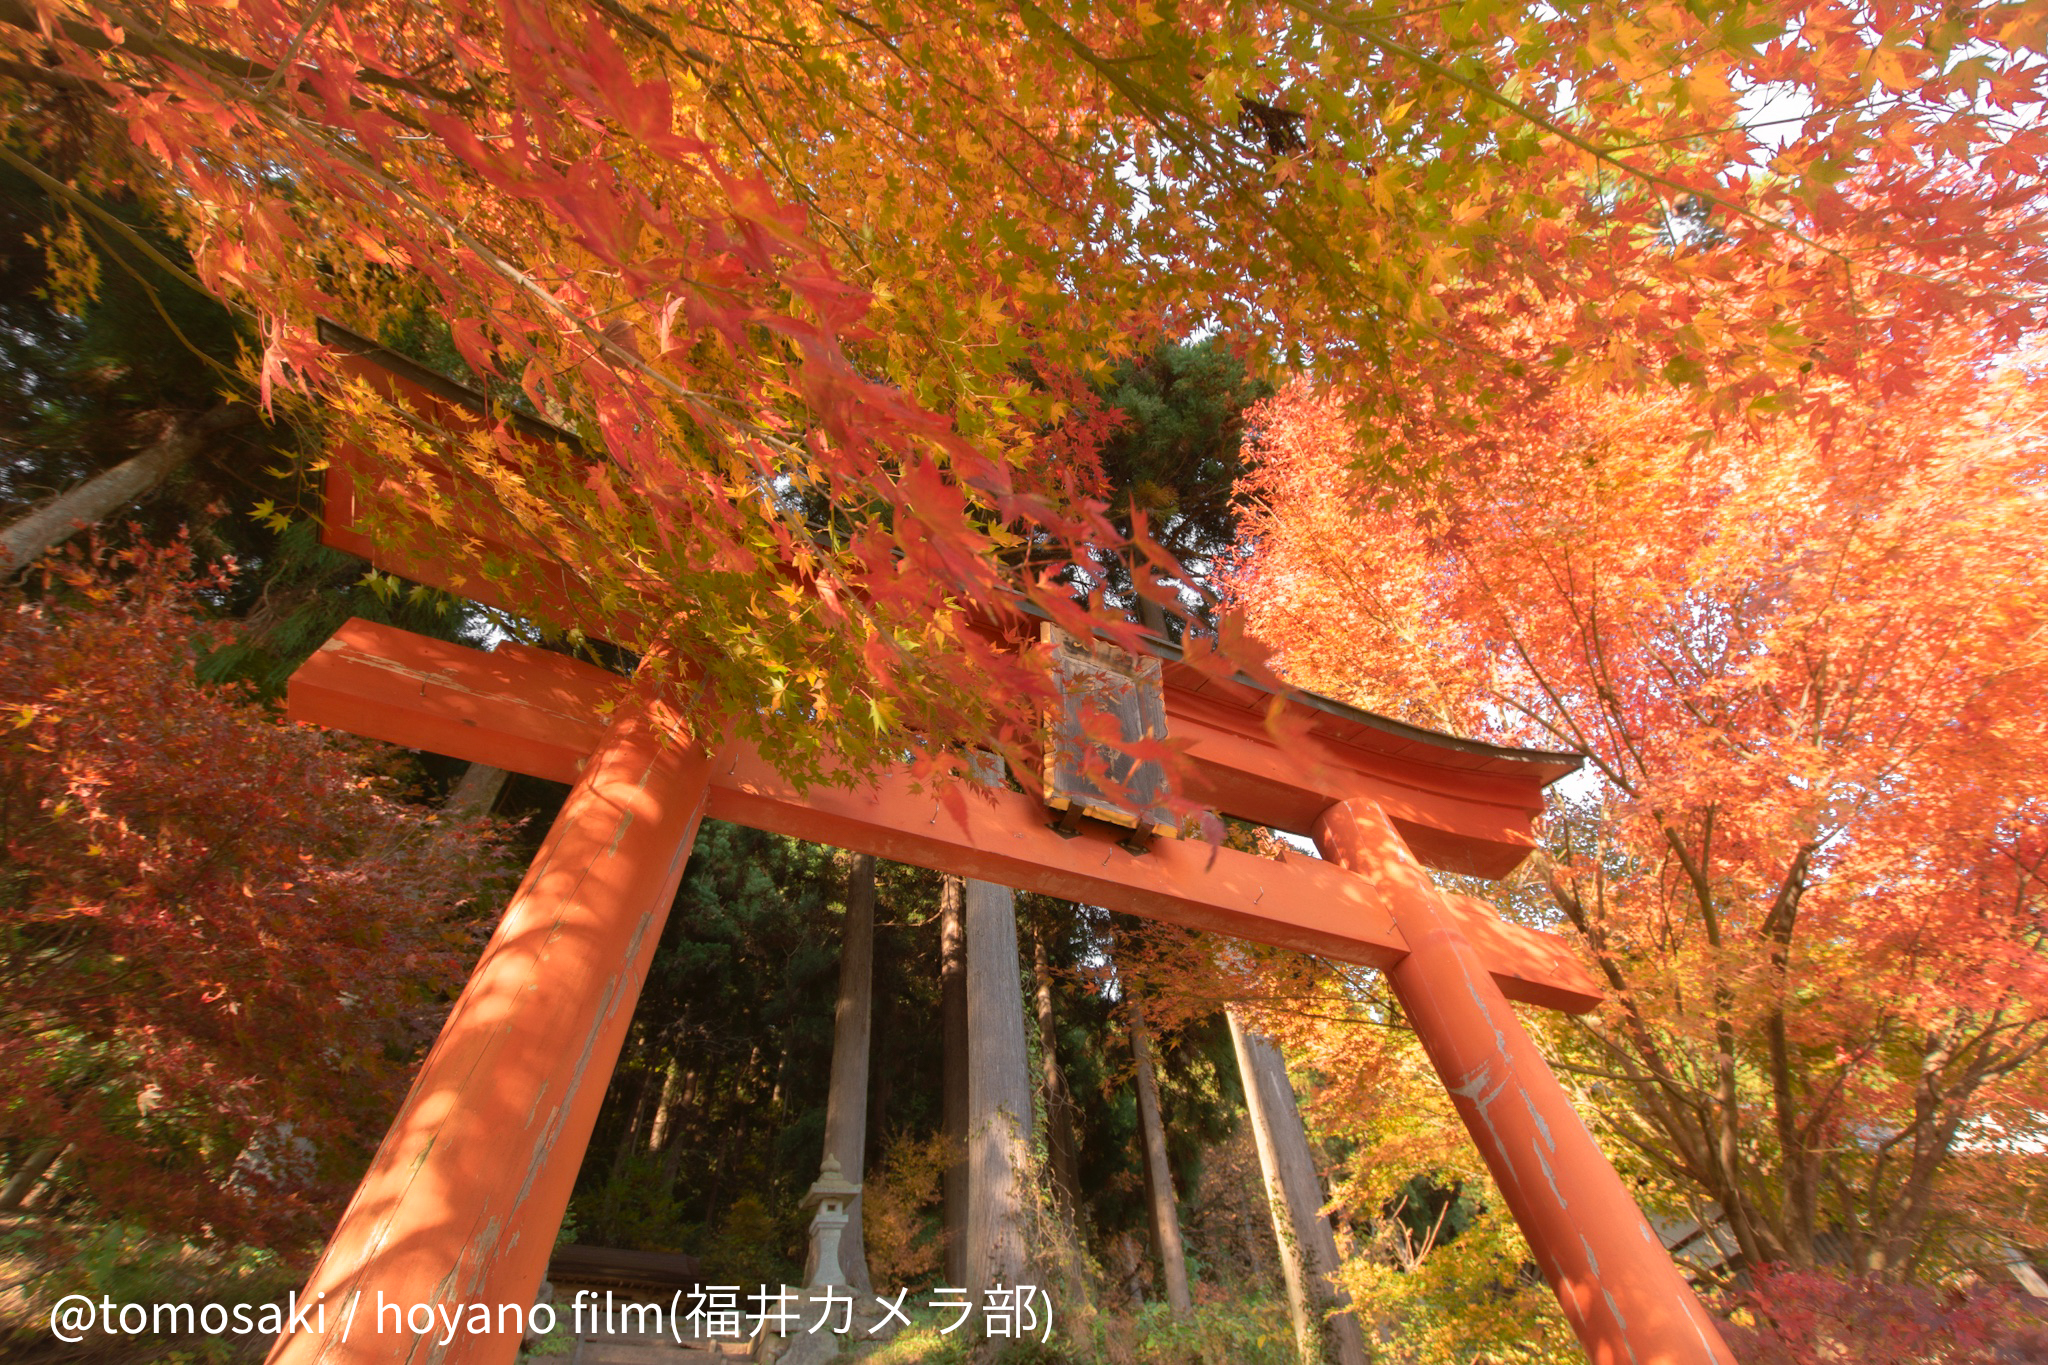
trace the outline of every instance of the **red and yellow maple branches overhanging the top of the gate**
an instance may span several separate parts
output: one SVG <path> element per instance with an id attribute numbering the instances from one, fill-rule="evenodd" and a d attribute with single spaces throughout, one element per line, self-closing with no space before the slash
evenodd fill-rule
<path id="1" fill-rule="evenodd" d="M 1354 379 L 1401 360 L 1446 395 L 1661 372 L 1718 411 L 1825 401 L 1802 370 L 1864 352 L 1911 387 L 1931 319 L 2017 334 L 2044 270 L 2040 25 L 6 0 L 0 160 L 106 231 L 117 188 L 176 217 L 193 282 L 258 315 L 266 395 L 336 403 L 315 313 L 446 317 L 594 458 L 336 403 L 379 467 L 440 528 L 479 505 L 520 526 L 528 567 L 567 567 L 592 620 L 629 616 L 625 645 L 668 645 L 803 769 L 905 731 L 1004 741 L 1036 710 L 1044 679 L 963 610 L 1071 612 L 1022 540 L 1120 553 L 1059 432 L 1075 377 L 1159 329 L 1223 321 Z M 1671 250 L 1702 235 L 1718 250 Z M 1733 291 L 1731 260 L 1769 287 Z M 1448 321 L 1473 307 L 1559 325 L 1489 346 Z M 420 471 L 436 444 L 477 503 Z M 805 493 L 840 518 L 811 524 Z"/>

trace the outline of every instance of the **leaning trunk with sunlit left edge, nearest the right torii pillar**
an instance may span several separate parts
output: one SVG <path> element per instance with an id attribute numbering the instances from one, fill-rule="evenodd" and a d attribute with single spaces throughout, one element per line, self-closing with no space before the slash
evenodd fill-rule
<path id="1" fill-rule="evenodd" d="M 1321 1365 L 1366 1365 L 1366 1336 L 1350 1312 L 1331 1314 L 1350 1300 L 1335 1287 L 1337 1238 L 1323 1218 L 1323 1179 L 1309 1152 L 1294 1087 L 1286 1078 L 1286 1058 L 1266 1038 L 1251 1033 L 1229 1011 L 1231 1044 L 1245 1083 L 1245 1109 L 1260 1148 L 1266 1197 L 1280 1242 L 1280 1271 L 1286 1275 L 1288 1310 L 1300 1359 Z"/>

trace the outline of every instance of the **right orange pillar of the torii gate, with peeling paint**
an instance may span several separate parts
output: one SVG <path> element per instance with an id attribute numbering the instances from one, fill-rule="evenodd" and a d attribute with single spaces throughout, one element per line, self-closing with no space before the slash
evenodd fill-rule
<path id="1" fill-rule="evenodd" d="M 1409 954 L 1386 980 L 1593 1365 L 1735 1365 L 1427 870 L 1370 800 L 1315 827 L 1386 898 Z"/>

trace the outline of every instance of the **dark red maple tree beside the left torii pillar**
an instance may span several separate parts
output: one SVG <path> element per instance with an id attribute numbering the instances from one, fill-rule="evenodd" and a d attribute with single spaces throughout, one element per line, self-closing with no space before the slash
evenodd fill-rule
<path id="1" fill-rule="evenodd" d="M 104 1220 L 297 1248 L 487 929 L 498 835 L 201 686 L 227 583 L 182 546 L 37 577 L 0 600 L 0 1140 L 68 1148 Z"/>

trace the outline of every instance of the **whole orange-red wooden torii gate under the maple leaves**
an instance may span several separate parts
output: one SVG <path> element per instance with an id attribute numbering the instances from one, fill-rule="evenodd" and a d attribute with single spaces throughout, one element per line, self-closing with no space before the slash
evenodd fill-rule
<path id="1" fill-rule="evenodd" d="M 387 397 L 451 428 L 481 422 L 467 391 L 336 338 Z M 328 544 L 500 600 L 477 557 L 371 542 L 356 530 L 365 497 L 406 512 L 350 450 L 334 452 Z M 440 1326 L 381 1330 L 379 1310 L 532 1302 L 705 814 L 1384 970 L 1595 1365 L 1733 1365 L 1509 1005 L 1581 1013 L 1599 986 L 1561 939 L 1444 892 L 1423 866 L 1513 870 L 1542 788 L 1577 759 L 1309 694 L 1282 702 L 1305 735 L 1282 749 L 1272 696 L 1174 659 L 1163 696 L 1184 790 L 1309 835 L 1323 860 L 1174 839 L 1137 853 L 1114 831 L 1053 831 L 1032 796 L 944 802 L 901 772 L 801 792 L 748 745 L 690 739 L 670 696 L 604 669 L 348 622 L 293 675 L 293 718 L 573 788 L 307 1281 L 326 1328 L 281 1336 L 272 1365 L 512 1359 L 516 1332 L 442 1345 Z"/>

